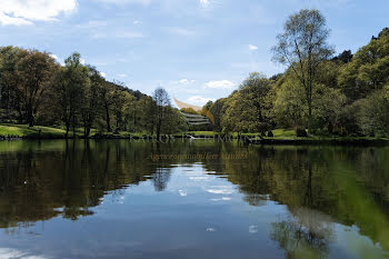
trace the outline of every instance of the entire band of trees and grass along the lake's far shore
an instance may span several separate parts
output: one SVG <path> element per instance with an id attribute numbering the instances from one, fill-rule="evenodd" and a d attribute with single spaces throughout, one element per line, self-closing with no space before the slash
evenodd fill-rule
<path id="1" fill-rule="evenodd" d="M 273 60 L 286 71 L 272 77 L 252 72 L 239 89 L 209 101 L 201 112 L 183 110 L 211 121 L 196 127 L 172 108 L 163 89 L 149 97 L 108 81 L 77 52 L 61 64 L 49 52 L 3 47 L 0 136 L 24 130 L 20 135 L 136 132 L 159 138 L 190 130 L 270 138 L 388 137 L 389 29 L 353 54 L 350 50 L 335 54 L 329 33 L 319 11 L 291 14 L 272 48 Z"/>

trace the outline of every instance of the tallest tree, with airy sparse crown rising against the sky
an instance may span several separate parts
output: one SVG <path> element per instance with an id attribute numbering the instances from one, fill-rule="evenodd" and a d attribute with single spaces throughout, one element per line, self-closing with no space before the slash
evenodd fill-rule
<path id="1" fill-rule="evenodd" d="M 277 37 L 278 44 L 272 48 L 273 59 L 289 66 L 303 87 L 308 130 L 311 129 L 312 93 L 318 67 L 333 53 L 327 43 L 328 37 L 326 18 L 318 10 L 302 9 L 289 17 L 283 33 Z"/>

